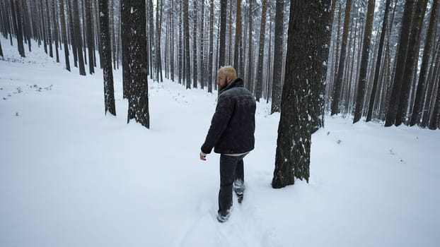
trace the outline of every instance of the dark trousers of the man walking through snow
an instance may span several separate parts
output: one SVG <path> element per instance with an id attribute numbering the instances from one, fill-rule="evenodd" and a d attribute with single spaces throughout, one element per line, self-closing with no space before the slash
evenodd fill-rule
<path id="1" fill-rule="evenodd" d="M 219 214 L 227 215 L 232 206 L 232 188 L 234 181 L 244 182 L 243 158 L 246 155 L 220 155 L 220 191 Z"/>

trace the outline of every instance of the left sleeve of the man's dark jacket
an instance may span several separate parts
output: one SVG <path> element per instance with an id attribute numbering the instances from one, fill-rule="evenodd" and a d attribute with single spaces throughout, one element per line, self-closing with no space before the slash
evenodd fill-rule
<path id="1" fill-rule="evenodd" d="M 216 112 L 212 116 L 211 126 L 207 134 L 207 138 L 204 140 L 202 145 L 202 152 L 209 154 L 219 142 L 221 135 L 223 135 L 228 123 L 231 120 L 233 114 L 234 103 L 231 97 L 225 97 L 220 95 L 219 102 L 217 102 Z"/>

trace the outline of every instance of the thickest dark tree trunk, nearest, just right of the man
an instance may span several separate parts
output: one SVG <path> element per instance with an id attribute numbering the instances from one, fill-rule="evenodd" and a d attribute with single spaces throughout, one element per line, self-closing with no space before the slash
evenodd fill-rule
<path id="1" fill-rule="evenodd" d="M 292 0 L 290 11 L 273 188 L 294 184 L 295 178 L 308 182 L 310 177 L 311 133 L 318 120 L 310 121 L 309 113 L 318 111 L 314 98 L 323 100 L 311 95 L 323 92 L 330 42 L 330 1 Z"/>

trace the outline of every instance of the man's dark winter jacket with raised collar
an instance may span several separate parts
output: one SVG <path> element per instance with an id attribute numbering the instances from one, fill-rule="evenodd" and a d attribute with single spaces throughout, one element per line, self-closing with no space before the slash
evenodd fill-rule
<path id="1" fill-rule="evenodd" d="M 219 94 L 202 152 L 241 154 L 254 149 L 255 99 L 236 78 Z"/>

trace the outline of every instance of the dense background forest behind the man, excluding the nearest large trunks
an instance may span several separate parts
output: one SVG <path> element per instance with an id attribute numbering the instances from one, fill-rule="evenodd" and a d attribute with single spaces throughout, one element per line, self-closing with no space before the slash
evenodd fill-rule
<path id="1" fill-rule="evenodd" d="M 146 59 L 152 80 L 165 77 L 212 92 L 216 69 L 232 65 L 257 100 L 270 101 L 272 112 L 280 111 L 289 11 L 302 8 L 291 8 L 296 1 L 147 0 L 138 4 L 144 13 L 136 17 L 145 20 L 145 27 L 135 21 L 130 30 L 133 8 L 127 6 L 136 2 L 0 0 L 0 31 L 11 44 L 18 43 L 21 56 L 33 45 L 43 46 L 57 61 L 64 51 L 86 76 L 94 73 L 103 52 L 110 68 L 128 68 L 133 59 L 125 54 L 133 44 L 124 40 L 143 29 L 138 59 Z M 438 1 L 331 1 L 329 11 L 325 112 L 353 116 L 354 122 L 365 117 L 385 126 L 439 128 Z M 100 38 L 104 13 L 107 46 Z M 65 68 L 70 66 L 66 59 Z M 124 80 L 128 84 L 128 76 Z"/>

